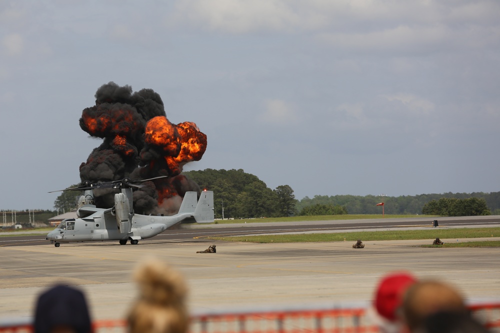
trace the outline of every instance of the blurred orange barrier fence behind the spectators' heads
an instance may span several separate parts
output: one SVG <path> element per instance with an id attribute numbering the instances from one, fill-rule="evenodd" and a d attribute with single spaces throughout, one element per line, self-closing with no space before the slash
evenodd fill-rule
<path id="1" fill-rule="evenodd" d="M 500 303 L 469 306 L 472 315 L 491 332 L 500 333 Z M 124 320 L 98 320 L 95 333 L 124 333 Z M 378 333 L 364 308 L 220 312 L 191 316 L 189 333 Z M 0 321 L 0 333 L 32 333 L 25 322 Z"/>

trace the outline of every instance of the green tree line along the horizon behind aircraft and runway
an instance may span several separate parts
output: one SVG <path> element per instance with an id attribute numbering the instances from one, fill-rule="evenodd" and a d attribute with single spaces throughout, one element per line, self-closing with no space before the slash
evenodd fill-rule
<path id="1" fill-rule="evenodd" d="M 489 212 L 500 215 L 500 192 L 471 194 L 449 192 L 383 198 L 373 195 L 315 195 L 313 198 L 304 197 L 297 200 L 289 185 L 270 189 L 257 176 L 242 169 L 205 169 L 183 174 L 196 182 L 200 188 L 213 191 L 215 218 L 381 214 L 382 208 L 376 204 L 382 201 L 385 214 L 459 216 L 460 214 L 485 215 Z M 76 194 L 78 193 L 73 191 L 62 192 L 55 200 L 54 208 L 65 211 L 74 208 Z M 469 198 L 475 199 L 465 200 Z"/>

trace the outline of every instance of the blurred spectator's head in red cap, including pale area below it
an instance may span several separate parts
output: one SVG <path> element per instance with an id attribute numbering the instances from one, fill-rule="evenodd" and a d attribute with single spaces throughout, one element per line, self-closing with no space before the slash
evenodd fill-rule
<path id="1" fill-rule="evenodd" d="M 375 289 L 373 308 L 369 312 L 380 332 L 401 331 L 400 312 L 404 292 L 415 282 L 412 275 L 404 272 L 390 273 L 380 280 Z"/>

